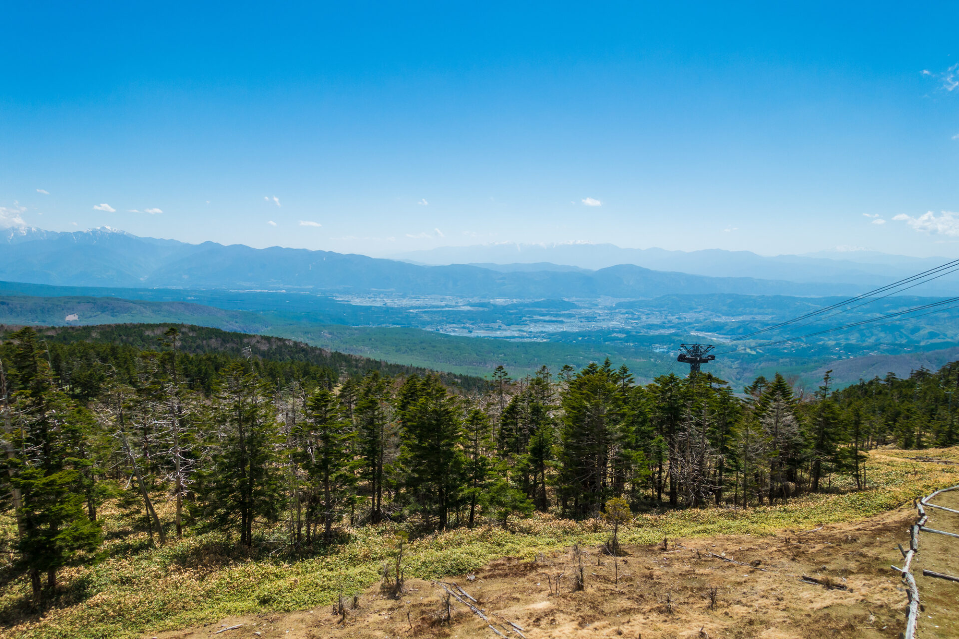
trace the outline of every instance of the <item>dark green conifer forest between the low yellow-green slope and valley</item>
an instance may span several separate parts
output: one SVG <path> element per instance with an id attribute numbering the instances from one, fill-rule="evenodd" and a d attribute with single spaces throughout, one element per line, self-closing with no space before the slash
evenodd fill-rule
<path id="1" fill-rule="evenodd" d="M 872 447 L 959 439 L 959 362 L 840 391 L 827 374 L 809 395 L 779 375 L 638 385 L 608 360 L 522 379 L 500 367 L 468 387 L 240 342 L 200 353 L 175 327 L 131 329 L 128 343 L 71 331 L 25 328 L 0 346 L 0 580 L 28 580 L 37 606 L 61 568 L 98 559 L 105 500 L 139 513 L 158 545 L 216 530 L 251 548 L 282 526 L 269 552 L 296 556 L 383 521 L 426 534 L 611 503 L 748 509 L 831 491 L 837 472 L 864 488 Z"/>

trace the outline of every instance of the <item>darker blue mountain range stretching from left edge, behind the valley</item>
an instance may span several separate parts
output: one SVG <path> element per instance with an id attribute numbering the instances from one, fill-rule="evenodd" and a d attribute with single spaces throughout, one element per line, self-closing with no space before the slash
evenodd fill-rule
<path id="1" fill-rule="evenodd" d="M 0 280 L 46 285 L 287 288 L 316 292 L 519 299 L 629 299 L 668 293 L 845 295 L 861 292 L 862 287 L 861 283 L 846 279 L 849 269 L 846 272 L 833 270 L 830 278 L 824 276 L 821 281 L 797 281 L 802 280 L 800 275 L 810 271 L 811 266 L 804 266 L 807 262 L 800 260 L 790 266 L 781 264 L 778 269 L 766 268 L 762 266 L 767 263 L 762 262 L 767 260 L 765 258 L 752 253 L 726 251 L 683 254 L 694 256 L 685 267 L 716 275 L 732 269 L 729 264 L 738 260 L 743 264 L 739 270 L 760 273 L 763 277 L 711 277 L 704 273 L 681 272 L 677 268 L 655 270 L 633 263 L 611 264 L 596 270 L 585 270 L 587 267 L 584 266 L 560 268 L 552 264 L 534 266 L 535 270 L 528 266 L 490 264 L 429 266 L 332 251 L 278 246 L 255 249 L 243 244 L 224 246 L 212 241 L 188 244 L 138 238 L 109 227 L 72 233 L 21 227 L 7 229 L 0 240 L 3 242 Z M 675 252 L 660 249 L 635 251 L 612 245 L 586 244 L 556 248 L 573 251 L 550 254 L 561 261 L 567 255 L 592 255 L 594 258 L 591 259 L 598 261 L 601 253 L 607 253 L 614 256 L 607 257 L 607 262 L 615 262 L 618 255 L 659 255 L 662 259 L 657 263 L 661 266 L 681 262 L 672 255 Z M 577 252 L 580 250 L 584 253 Z M 456 251 L 469 257 L 465 249 Z M 515 258 L 515 254 L 510 255 Z M 707 268 L 711 256 L 715 266 Z M 806 260 L 816 262 L 818 259 Z M 838 263 L 830 260 L 818 262 Z M 822 270 L 826 266 L 820 264 L 819 268 Z M 781 279 L 780 274 L 792 277 Z M 887 283 L 889 279 L 876 276 L 880 283 Z"/>

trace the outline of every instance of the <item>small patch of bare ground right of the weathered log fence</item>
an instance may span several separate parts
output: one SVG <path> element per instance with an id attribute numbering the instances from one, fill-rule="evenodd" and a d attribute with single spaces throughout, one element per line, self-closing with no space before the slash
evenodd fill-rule
<path id="1" fill-rule="evenodd" d="M 937 495 L 930 503 L 959 511 L 959 491 Z M 959 535 L 959 514 L 927 508 L 925 526 Z M 904 545 L 904 544 L 903 544 Z M 959 577 L 959 539 L 921 532 L 919 554 L 912 572 L 919 586 L 918 634 L 925 638 L 954 639 L 959 637 L 959 582 L 924 577 L 923 569 Z M 901 565 L 901 562 L 900 562 Z"/>

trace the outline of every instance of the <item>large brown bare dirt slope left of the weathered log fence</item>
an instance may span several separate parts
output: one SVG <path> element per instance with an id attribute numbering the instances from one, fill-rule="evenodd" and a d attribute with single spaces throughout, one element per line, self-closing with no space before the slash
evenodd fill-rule
<path id="1" fill-rule="evenodd" d="M 937 503 L 947 506 L 945 498 Z M 806 532 L 669 539 L 665 548 L 663 543 L 624 546 L 626 554 L 619 559 L 587 548 L 585 587 L 578 591 L 573 579 L 578 559 L 572 550 L 533 561 L 500 559 L 475 575 L 445 580 L 488 621 L 456 599 L 451 599 L 451 618 L 446 619 L 444 589 L 434 582 L 408 580 L 399 598 L 379 585 L 367 589 L 356 608 L 347 603 L 345 615 L 328 606 L 226 618 L 145 637 L 897 637 L 905 625 L 906 597 L 890 564 L 901 564 L 896 544 L 908 540 L 908 526 L 914 521 L 915 511 L 905 507 Z M 959 530 L 959 523 L 947 522 L 939 513 L 933 524 Z M 928 561 L 941 572 L 959 572 L 952 541 L 959 539 L 923 534 L 920 566 Z M 939 559 L 948 552 L 948 560 Z M 804 581 L 804 576 L 819 583 Z M 918 579 L 928 602 L 924 617 L 929 617 L 921 620 L 920 629 L 930 624 L 942 629 L 942 634 L 924 636 L 957 636 L 959 583 Z M 456 591 L 455 583 L 476 603 Z"/>

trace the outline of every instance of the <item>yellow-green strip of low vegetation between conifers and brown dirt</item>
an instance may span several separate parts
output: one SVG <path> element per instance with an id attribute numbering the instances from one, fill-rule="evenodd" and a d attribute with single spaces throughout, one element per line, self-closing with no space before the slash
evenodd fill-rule
<path id="1" fill-rule="evenodd" d="M 873 451 L 865 491 L 851 491 L 849 478 L 839 477 L 833 482 L 837 491 L 784 506 L 639 515 L 620 535 L 631 543 L 656 543 L 664 536 L 772 535 L 784 528 L 860 519 L 959 484 L 959 467 L 907 459 L 917 454 Z M 922 454 L 959 461 L 959 447 Z M 11 523 L 6 522 L 8 530 Z M 398 532 L 388 525 L 359 528 L 328 555 L 288 560 L 269 559 L 266 553 L 245 557 L 228 539 L 213 534 L 153 549 L 146 534 L 130 528 L 116 510 L 105 509 L 105 529 L 105 560 L 65 571 L 64 595 L 42 619 L 18 617 L 29 592 L 25 580 L 0 594 L 0 637 L 136 637 L 147 629 L 183 628 L 227 615 L 329 604 L 340 592 L 349 594 L 377 581 L 383 563 L 395 553 Z M 596 520 L 577 523 L 551 516 L 516 521 L 509 530 L 456 529 L 411 542 L 407 572 L 421 578 L 462 574 L 491 559 L 531 559 L 574 541 L 600 543 L 607 535 Z"/>

